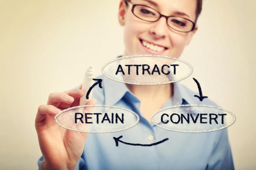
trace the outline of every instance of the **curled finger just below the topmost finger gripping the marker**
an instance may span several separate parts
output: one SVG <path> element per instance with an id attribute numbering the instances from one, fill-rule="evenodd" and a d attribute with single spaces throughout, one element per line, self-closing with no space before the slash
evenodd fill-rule
<path id="1" fill-rule="evenodd" d="M 69 96 L 66 93 L 54 92 L 49 95 L 47 105 L 53 105 L 53 106 L 58 107 L 59 102 L 71 104 L 73 101 L 74 101 L 74 98 Z"/>

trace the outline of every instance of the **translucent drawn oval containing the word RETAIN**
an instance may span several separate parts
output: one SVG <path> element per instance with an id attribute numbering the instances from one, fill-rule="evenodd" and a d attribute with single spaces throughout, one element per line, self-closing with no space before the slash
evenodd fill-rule
<path id="1" fill-rule="evenodd" d="M 109 105 L 75 106 L 64 109 L 55 116 L 58 125 L 86 133 L 122 131 L 135 126 L 139 120 L 135 112 Z"/>

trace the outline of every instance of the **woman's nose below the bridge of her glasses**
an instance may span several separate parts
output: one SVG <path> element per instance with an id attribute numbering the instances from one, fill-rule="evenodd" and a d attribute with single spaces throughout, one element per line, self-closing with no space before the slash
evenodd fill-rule
<path id="1" fill-rule="evenodd" d="M 158 21 L 152 23 L 149 32 L 154 35 L 155 38 L 165 38 L 167 36 L 167 23 L 164 17 L 161 17 Z"/>

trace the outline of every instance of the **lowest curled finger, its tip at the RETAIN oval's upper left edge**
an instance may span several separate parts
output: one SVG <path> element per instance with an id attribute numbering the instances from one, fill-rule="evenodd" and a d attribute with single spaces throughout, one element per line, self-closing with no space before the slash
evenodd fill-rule
<path id="1" fill-rule="evenodd" d="M 47 114 L 56 115 L 61 110 L 53 105 L 40 105 L 36 114 L 35 123 L 41 122 L 45 119 Z"/>

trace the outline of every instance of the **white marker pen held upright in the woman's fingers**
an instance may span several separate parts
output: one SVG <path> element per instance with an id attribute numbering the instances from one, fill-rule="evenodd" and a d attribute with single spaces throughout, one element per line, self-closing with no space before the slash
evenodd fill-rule
<path id="1" fill-rule="evenodd" d="M 79 104 L 80 106 L 85 105 L 89 100 L 92 99 L 93 89 L 89 94 L 89 99 L 86 99 L 86 93 L 88 92 L 89 88 L 94 84 L 94 80 L 92 80 L 93 78 L 94 78 L 94 69 L 92 65 L 90 65 L 90 67 L 85 72 L 85 77 L 83 78 L 82 90 L 85 90 L 85 95 L 83 95 L 80 98 L 80 104 Z"/>

